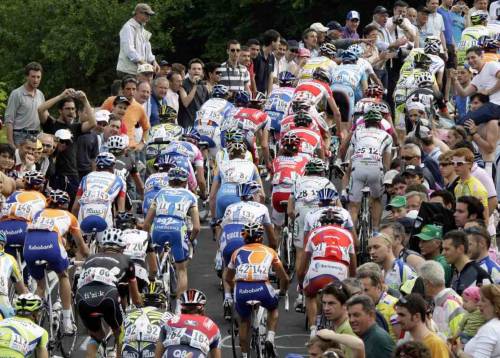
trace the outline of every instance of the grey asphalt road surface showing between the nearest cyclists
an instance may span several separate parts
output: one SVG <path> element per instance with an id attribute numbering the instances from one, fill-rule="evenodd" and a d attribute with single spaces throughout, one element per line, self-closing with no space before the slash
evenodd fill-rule
<path id="1" fill-rule="evenodd" d="M 222 357 L 232 357 L 230 325 L 224 320 L 222 312 L 222 293 L 219 290 L 219 279 L 214 270 L 216 243 L 212 240 L 208 226 L 203 225 L 198 246 L 193 260 L 189 264 L 189 287 L 202 290 L 208 298 L 206 307 L 207 315 L 213 319 L 220 328 L 222 335 Z M 285 357 L 287 353 L 306 354 L 305 343 L 308 333 L 305 330 L 305 315 L 293 311 L 293 302 L 296 297 L 296 283 L 290 285 L 290 312 L 284 309 L 280 302 L 280 319 L 276 333 L 276 346 L 279 356 Z M 85 357 L 87 335 L 85 328 L 78 327 L 78 349 L 73 356 Z"/>

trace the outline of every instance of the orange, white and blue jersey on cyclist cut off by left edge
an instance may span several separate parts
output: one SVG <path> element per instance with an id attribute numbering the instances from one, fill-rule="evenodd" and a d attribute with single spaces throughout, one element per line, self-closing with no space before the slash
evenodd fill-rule
<path id="1" fill-rule="evenodd" d="M 33 217 L 45 209 L 47 199 L 38 191 L 19 190 L 12 193 L 2 208 L 3 219 L 17 219 L 31 222 Z"/>

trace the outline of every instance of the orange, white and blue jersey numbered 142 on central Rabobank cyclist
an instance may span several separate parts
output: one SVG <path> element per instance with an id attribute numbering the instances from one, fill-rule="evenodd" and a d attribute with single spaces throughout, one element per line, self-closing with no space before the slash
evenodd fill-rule
<path id="1" fill-rule="evenodd" d="M 266 245 L 253 243 L 245 245 L 233 253 L 228 267 L 236 271 L 236 281 L 267 281 L 271 267 L 280 259 L 276 251 Z"/>

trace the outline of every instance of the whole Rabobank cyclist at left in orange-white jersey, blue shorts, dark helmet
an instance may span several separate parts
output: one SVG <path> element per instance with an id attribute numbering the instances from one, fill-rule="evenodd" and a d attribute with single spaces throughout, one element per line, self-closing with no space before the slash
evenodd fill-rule
<path id="1" fill-rule="evenodd" d="M 71 284 L 68 276 L 67 235 L 71 234 L 76 243 L 78 257 L 89 255 L 87 244 L 83 240 L 76 217 L 67 208 L 70 202 L 68 193 L 62 190 L 49 192 L 48 208 L 38 212 L 28 228 L 24 242 L 24 259 L 30 275 L 36 280 L 36 293 L 45 297 L 45 270 L 36 264 L 37 260 L 48 262 L 47 269 L 53 270 L 59 277 L 59 290 L 62 302 L 63 332 L 75 331 L 71 321 Z"/>

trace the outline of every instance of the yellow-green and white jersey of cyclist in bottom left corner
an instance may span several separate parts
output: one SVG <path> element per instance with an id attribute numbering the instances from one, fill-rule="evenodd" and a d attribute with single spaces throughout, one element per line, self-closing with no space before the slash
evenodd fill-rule
<path id="1" fill-rule="evenodd" d="M 0 356 L 33 358 L 38 347 L 47 348 L 49 335 L 45 329 L 25 317 L 0 321 Z"/>

